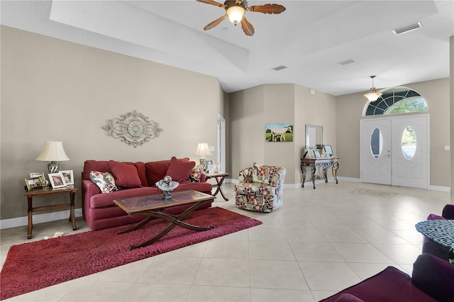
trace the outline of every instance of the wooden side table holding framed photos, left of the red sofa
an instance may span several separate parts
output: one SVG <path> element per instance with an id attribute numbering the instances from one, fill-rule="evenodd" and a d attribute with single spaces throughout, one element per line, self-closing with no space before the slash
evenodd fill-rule
<path id="1" fill-rule="evenodd" d="M 40 211 L 49 211 L 57 210 L 60 208 L 70 208 L 70 220 L 72 223 L 72 230 L 77 230 L 76 227 L 76 218 L 74 216 L 74 196 L 76 192 L 79 191 L 75 186 L 67 186 L 65 188 L 52 189 L 52 187 L 45 187 L 40 189 L 33 189 L 31 191 L 26 191 L 23 195 L 27 196 L 28 201 L 28 235 L 27 239 L 31 239 L 31 229 L 33 228 L 33 212 Z M 52 194 L 70 194 L 70 203 L 61 203 L 54 206 L 38 206 L 33 208 L 33 197 L 34 196 L 47 196 Z"/>

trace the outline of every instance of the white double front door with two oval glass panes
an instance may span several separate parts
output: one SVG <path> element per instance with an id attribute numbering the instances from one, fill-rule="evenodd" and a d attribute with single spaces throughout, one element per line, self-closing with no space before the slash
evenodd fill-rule
<path id="1" fill-rule="evenodd" d="M 428 115 L 360 123 L 362 182 L 428 189 Z"/>

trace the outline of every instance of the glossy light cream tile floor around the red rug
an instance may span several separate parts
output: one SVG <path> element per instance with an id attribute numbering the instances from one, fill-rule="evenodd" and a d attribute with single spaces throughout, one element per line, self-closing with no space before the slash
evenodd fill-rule
<path id="1" fill-rule="evenodd" d="M 354 193 L 389 192 L 384 198 Z M 273 213 L 243 211 L 230 201 L 214 206 L 262 225 L 163 255 L 33 291 L 10 301 L 319 301 L 392 265 L 411 274 L 421 253 L 415 223 L 441 214 L 449 193 L 339 181 L 284 189 Z M 77 218 L 79 230 L 89 230 Z M 75 233 L 67 220 L 34 225 L 33 239 Z M 1 264 L 26 227 L 1 230 Z"/>

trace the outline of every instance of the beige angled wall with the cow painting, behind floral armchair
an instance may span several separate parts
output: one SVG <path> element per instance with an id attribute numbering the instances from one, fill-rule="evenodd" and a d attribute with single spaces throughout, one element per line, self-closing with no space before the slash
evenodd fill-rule
<path id="1" fill-rule="evenodd" d="M 253 162 L 285 167 L 285 184 L 300 184 L 305 125 L 322 125 L 323 141 L 336 147 L 336 98 L 295 84 L 265 84 L 230 94 L 231 171 Z M 293 142 L 266 142 L 267 123 L 293 123 Z"/>

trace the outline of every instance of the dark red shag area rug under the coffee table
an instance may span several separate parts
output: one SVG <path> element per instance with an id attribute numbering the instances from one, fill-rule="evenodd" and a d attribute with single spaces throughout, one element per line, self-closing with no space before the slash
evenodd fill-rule
<path id="1" fill-rule="evenodd" d="M 148 240 L 168 223 L 157 219 L 121 235 L 116 232 L 128 226 L 13 245 L 0 274 L 0 298 L 43 289 L 262 224 L 259 220 L 217 207 L 194 211 L 192 218 L 184 221 L 193 225 L 214 225 L 214 229 L 197 232 L 177 226 L 148 247 L 135 250 L 128 250 L 128 247 Z"/>

